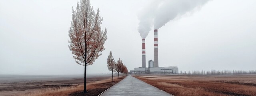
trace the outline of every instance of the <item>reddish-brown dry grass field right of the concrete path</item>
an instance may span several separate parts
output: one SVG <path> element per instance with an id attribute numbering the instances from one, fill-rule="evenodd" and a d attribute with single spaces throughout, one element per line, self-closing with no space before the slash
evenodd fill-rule
<path id="1" fill-rule="evenodd" d="M 256 96 L 256 75 L 133 75 L 175 96 Z"/>

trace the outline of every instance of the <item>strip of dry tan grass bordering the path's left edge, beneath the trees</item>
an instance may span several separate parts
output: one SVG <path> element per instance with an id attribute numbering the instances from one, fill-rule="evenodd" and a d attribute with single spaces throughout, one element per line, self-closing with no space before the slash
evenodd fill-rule
<path id="1" fill-rule="evenodd" d="M 104 90 L 118 83 L 123 78 L 118 79 L 118 77 L 114 77 L 114 82 L 112 82 L 112 78 L 89 82 L 86 84 L 88 90 L 88 93 L 86 94 L 82 93 L 84 84 L 79 84 L 70 87 L 45 88 L 18 96 L 98 96 Z"/>

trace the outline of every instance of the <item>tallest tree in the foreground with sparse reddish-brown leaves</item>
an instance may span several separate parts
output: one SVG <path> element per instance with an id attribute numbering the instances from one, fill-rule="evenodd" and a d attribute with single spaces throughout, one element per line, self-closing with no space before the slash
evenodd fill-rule
<path id="1" fill-rule="evenodd" d="M 95 13 L 89 0 L 81 0 L 80 4 L 77 2 L 76 10 L 72 7 L 68 47 L 74 54 L 76 63 L 84 66 L 84 93 L 86 93 L 86 66 L 92 65 L 101 55 L 100 52 L 105 50 L 103 45 L 107 39 L 107 30 L 105 28 L 103 31 L 100 28 L 103 19 L 100 17 L 99 9 Z"/>

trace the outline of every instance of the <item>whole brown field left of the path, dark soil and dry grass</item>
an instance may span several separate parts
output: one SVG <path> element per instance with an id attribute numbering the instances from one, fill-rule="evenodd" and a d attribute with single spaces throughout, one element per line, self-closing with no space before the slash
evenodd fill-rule
<path id="1" fill-rule="evenodd" d="M 86 86 L 89 91 L 87 95 L 98 96 L 98 94 L 122 79 L 118 79 L 118 76 L 115 75 L 114 82 L 112 82 L 112 74 L 88 76 L 86 79 Z M 24 76 L 18 77 L 18 80 L 0 79 L 0 96 L 81 96 L 84 89 L 83 83 L 83 78 L 72 76 L 64 76 L 63 78 L 49 77 L 47 79 L 42 78 L 42 80 Z"/>

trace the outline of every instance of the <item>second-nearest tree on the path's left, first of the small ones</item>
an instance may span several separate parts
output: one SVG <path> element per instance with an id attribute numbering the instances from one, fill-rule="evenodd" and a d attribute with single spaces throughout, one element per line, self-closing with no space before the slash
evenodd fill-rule
<path id="1" fill-rule="evenodd" d="M 108 55 L 107 63 L 108 63 L 108 70 L 112 71 L 112 82 L 114 82 L 113 72 L 115 72 L 115 64 L 116 64 L 116 62 L 114 60 L 114 57 L 112 56 L 112 52 L 111 51 L 110 51 L 110 53 Z"/>

